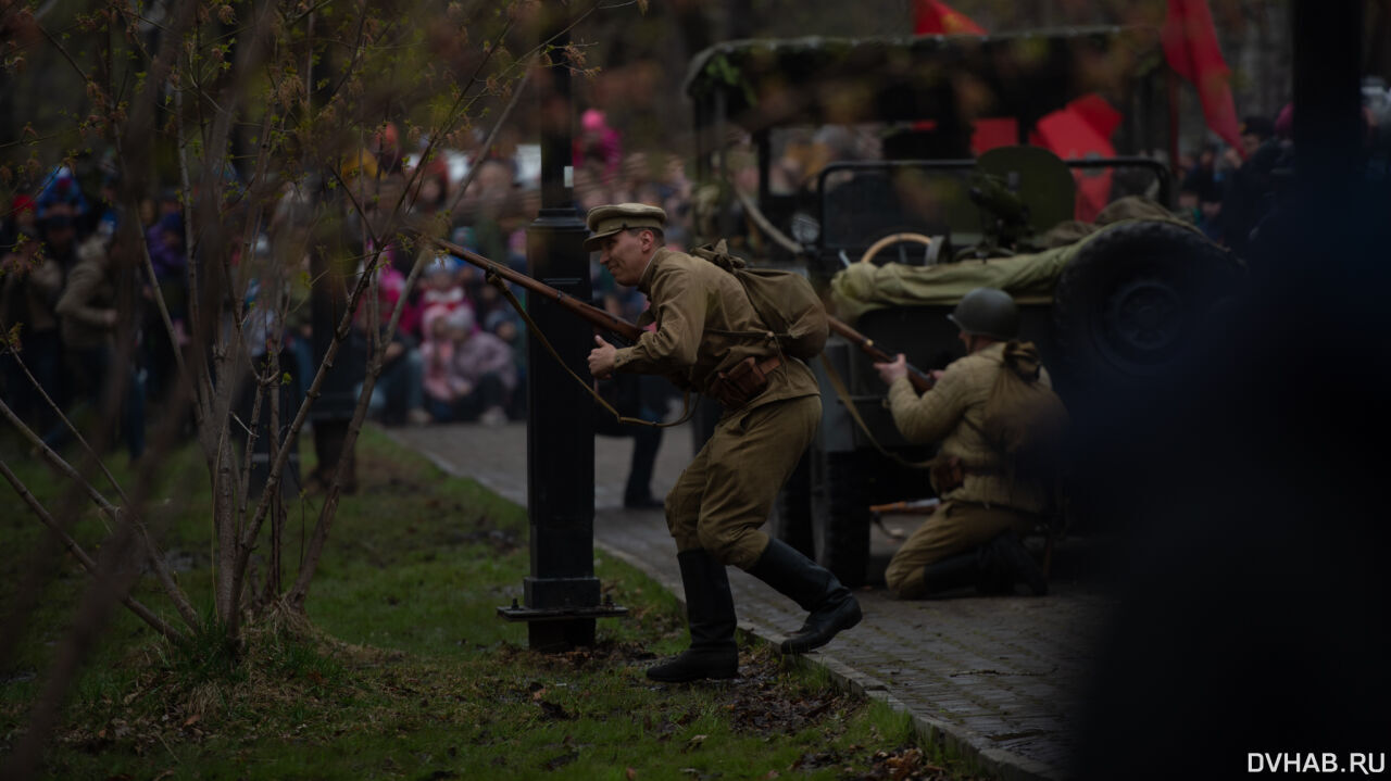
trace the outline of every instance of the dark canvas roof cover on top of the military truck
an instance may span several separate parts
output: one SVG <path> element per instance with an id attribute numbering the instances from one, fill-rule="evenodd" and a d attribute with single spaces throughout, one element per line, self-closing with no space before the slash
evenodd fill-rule
<path id="1" fill-rule="evenodd" d="M 958 90 L 993 96 L 1036 120 L 1070 100 L 1127 92 L 1118 74 L 1160 64 L 1146 28 L 1096 26 L 1000 35 L 734 40 L 697 54 L 686 75 L 696 120 L 746 131 L 787 124 L 854 124 L 957 117 Z M 967 79 L 970 85 L 963 83 Z"/>

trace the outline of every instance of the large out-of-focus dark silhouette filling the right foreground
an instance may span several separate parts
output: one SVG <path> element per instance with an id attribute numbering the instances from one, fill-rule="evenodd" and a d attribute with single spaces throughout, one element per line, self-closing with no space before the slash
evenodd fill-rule
<path id="1" fill-rule="evenodd" d="M 1346 767 L 1388 748 L 1391 197 L 1349 143 L 1360 4 L 1296 0 L 1292 22 L 1296 189 L 1249 247 L 1252 290 L 1185 372 L 1079 432 L 1128 534 L 1079 692 L 1078 778 L 1234 778 L 1257 752 Z"/>

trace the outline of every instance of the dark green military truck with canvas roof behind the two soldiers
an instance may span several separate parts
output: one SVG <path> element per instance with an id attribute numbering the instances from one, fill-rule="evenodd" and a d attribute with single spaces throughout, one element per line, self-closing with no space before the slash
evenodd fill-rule
<path id="1" fill-rule="evenodd" d="M 1241 264 L 1168 211 L 1171 78 L 1157 33 L 1129 28 L 715 46 L 686 79 L 693 239 L 804 271 L 839 318 L 924 370 L 961 354 L 946 320 L 957 300 L 1004 288 L 1085 420 L 1171 367 L 1239 289 Z M 1124 154 L 1029 146 L 1057 146 L 1060 126 L 1091 138 L 1071 108 L 1097 97 Z M 823 420 L 773 532 L 861 584 L 871 506 L 929 496 L 906 464 L 932 449 L 897 434 L 850 342 L 833 336 L 812 368 Z"/>

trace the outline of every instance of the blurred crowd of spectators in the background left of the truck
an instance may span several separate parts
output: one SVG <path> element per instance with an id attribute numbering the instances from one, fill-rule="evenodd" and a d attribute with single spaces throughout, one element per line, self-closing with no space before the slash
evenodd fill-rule
<path id="1" fill-rule="evenodd" d="M 509 145 L 494 146 L 488 154 L 469 158 L 441 154 L 421 163 L 403 154 L 398 138 L 385 132 L 363 150 L 349 168 L 378 182 L 406 182 L 417 174 L 420 182 L 408 199 L 412 218 L 428 220 L 438 213 L 451 217 L 445 236 L 453 243 L 526 271 L 526 229 L 540 207 L 533 150 Z M 683 246 L 682 225 L 687 213 L 690 185 L 679 158 L 648 156 L 622 149 L 619 133 L 600 111 L 583 115 L 574 146 L 574 197 L 580 214 L 597 203 L 644 202 L 672 214 L 669 243 Z M 415 171 L 424 165 L 424 171 Z M 90 168 L 90 170 L 86 170 Z M 469 174 L 472 172 L 472 176 Z M 99 414 L 100 393 L 113 385 L 108 372 L 122 371 L 124 403 L 120 429 L 129 454 L 143 450 L 145 411 L 163 414 L 163 403 L 177 378 L 177 354 L 195 349 L 188 322 L 189 252 L 185 246 L 184 204 L 186 193 L 166 189 L 152 193 L 129 218 L 139 220 L 143 247 L 153 275 L 138 272 L 135 300 L 121 299 L 110 258 L 114 254 L 118 220 L 127 215 L 114 206 L 115 165 L 57 165 L 42 181 L 21 190 L 0 215 L 0 324 L 14 335 L 15 350 L 0 354 L 0 397 L 50 443 L 67 439 L 47 395 L 68 417 L 82 421 Z M 470 182 L 465 190 L 460 185 Z M 92 195 L 97 193 L 97 195 Z M 287 188 L 280 210 L 295 195 Z M 367 204 L 364 217 L 384 202 Z M 268 225 L 275 218 L 267 215 Z M 367 235 L 369 232 L 359 232 Z M 248 245 L 257 254 L 274 256 L 271 235 L 256 236 Z M 359 257 L 373 257 L 377 247 L 349 247 Z M 391 342 L 384 347 L 383 371 L 371 393 L 369 413 L 387 424 L 431 421 L 479 421 L 501 424 L 526 416 L 526 350 L 520 317 L 483 274 L 449 254 L 424 258 L 423 274 L 412 290 L 405 282 L 417 256 L 392 243 L 381 247 L 377 265 L 377 306 L 360 306 L 352 336 L 345 347 L 349 361 L 366 365 L 371 331 L 385 329 L 392 311 L 401 317 Z M 284 328 L 277 307 L 248 307 L 243 334 L 252 359 L 266 353 L 267 339 L 281 339 L 281 365 L 294 378 L 302 397 L 317 370 L 312 334 L 307 258 L 288 258 L 291 306 Z M 595 303 L 636 320 L 644 302 L 620 289 L 591 258 Z M 268 295 L 268 281 L 252 281 L 248 302 Z M 152 304 L 156 290 L 163 296 L 174 336 Z M 523 297 L 520 290 L 516 290 Z M 127 313 L 124 307 L 134 311 Z M 376 313 L 377 321 L 373 322 Z M 132 324 L 136 350 L 118 360 L 117 322 Z M 18 327 L 18 328 L 15 328 Z M 320 346 L 321 349 L 321 346 Z M 33 379 L 29 379 L 29 375 Z M 360 385 L 359 385 L 360 389 Z M 39 392 L 42 390 L 42 393 Z M 644 395 L 652 417 L 665 409 Z M 661 397 L 658 393 L 657 399 Z M 90 410 L 90 411 L 85 411 Z"/>

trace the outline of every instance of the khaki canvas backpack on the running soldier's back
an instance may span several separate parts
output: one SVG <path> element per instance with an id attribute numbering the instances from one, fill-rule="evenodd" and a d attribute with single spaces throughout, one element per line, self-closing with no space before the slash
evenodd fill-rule
<path id="1" fill-rule="evenodd" d="M 796 271 L 750 267 L 743 258 L 729 254 L 723 239 L 691 250 L 691 256 L 708 260 L 739 279 L 758 318 L 773 332 L 785 353 L 801 360 L 821 354 L 830 336 L 830 320 L 805 277 Z"/>

